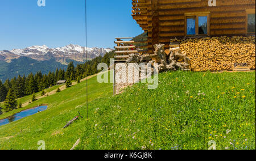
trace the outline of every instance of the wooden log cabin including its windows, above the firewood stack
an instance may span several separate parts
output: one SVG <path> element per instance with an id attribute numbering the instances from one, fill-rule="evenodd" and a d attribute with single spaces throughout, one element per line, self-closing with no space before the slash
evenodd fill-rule
<path id="1" fill-rule="evenodd" d="M 255 36 L 255 0 L 133 0 L 148 52 L 174 37 Z"/>

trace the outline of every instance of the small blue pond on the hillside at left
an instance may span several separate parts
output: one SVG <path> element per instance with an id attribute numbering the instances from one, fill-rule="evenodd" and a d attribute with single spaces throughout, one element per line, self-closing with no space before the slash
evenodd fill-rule
<path id="1" fill-rule="evenodd" d="M 35 108 L 26 109 L 19 113 L 15 113 L 13 116 L 0 120 L 0 126 L 9 124 L 10 122 L 17 121 L 21 118 L 24 118 L 30 115 L 34 115 L 35 113 L 38 113 L 38 112 L 45 111 L 46 109 L 47 109 L 47 105 L 43 105 Z"/>

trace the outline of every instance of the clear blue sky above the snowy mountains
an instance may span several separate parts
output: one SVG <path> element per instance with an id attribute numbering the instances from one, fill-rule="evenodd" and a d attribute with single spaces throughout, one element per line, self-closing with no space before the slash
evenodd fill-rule
<path id="1" fill-rule="evenodd" d="M 113 48 L 115 37 L 142 33 L 131 16 L 131 0 L 87 0 L 87 44 Z M 85 46 L 85 0 L 0 1 L 0 50 L 68 44 Z"/>

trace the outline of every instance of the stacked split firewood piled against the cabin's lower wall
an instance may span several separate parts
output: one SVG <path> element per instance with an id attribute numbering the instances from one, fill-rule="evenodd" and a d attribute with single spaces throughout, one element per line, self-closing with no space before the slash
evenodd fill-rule
<path id="1" fill-rule="evenodd" d="M 236 63 L 255 69 L 255 36 L 172 39 L 171 44 L 174 42 L 191 60 L 193 71 L 230 70 Z"/>

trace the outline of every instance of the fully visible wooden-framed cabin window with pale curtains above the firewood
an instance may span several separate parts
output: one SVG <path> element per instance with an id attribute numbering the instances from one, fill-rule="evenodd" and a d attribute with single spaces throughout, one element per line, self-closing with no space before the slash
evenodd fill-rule
<path id="1" fill-rule="evenodd" d="M 186 35 L 209 35 L 209 12 L 185 14 Z"/>

